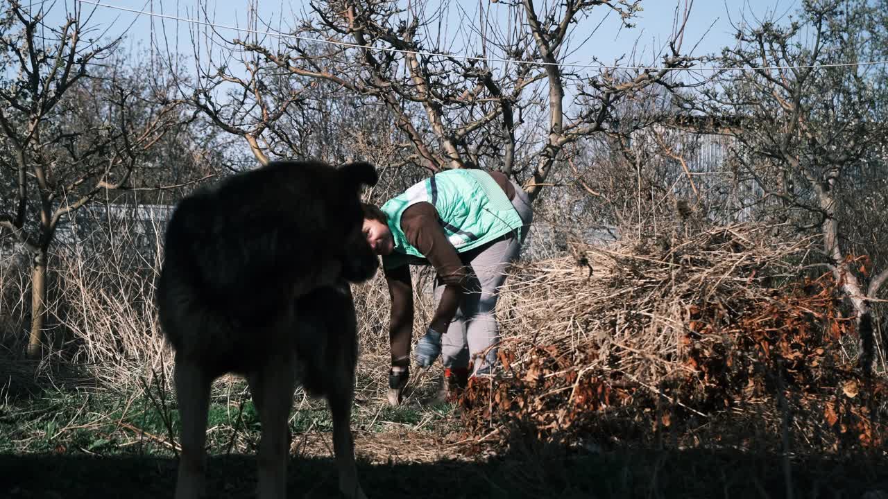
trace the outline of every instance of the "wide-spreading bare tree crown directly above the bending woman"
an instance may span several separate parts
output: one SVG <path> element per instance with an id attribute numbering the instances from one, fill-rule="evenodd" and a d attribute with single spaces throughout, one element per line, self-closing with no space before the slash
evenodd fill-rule
<path id="1" fill-rule="evenodd" d="M 652 85 L 678 86 L 670 70 L 691 64 L 680 53 L 686 10 L 654 61 L 660 69 L 605 70 L 590 77 L 565 66 L 581 21 L 606 10 L 614 22 L 629 25 L 639 5 L 570 0 L 540 7 L 529 0 L 505 1 L 480 4 L 475 19 L 459 6 L 424 1 L 406 8 L 391 0 L 313 2 L 310 19 L 281 28 L 274 41 L 215 34 L 216 44 L 230 47 L 229 57 L 238 54 L 246 76 L 233 76 L 231 59 L 217 60 L 215 70 L 206 71 L 209 83 L 194 97 L 219 126 L 242 135 L 265 161 L 275 144 L 286 142 L 274 123 L 294 108 L 305 109 L 311 91 L 348 96 L 360 109 L 354 115 L 365 119 L 385 109 L 390 116 L 385 124 L 398 130 L 385 134 L 395 142 L 399 164 L 426 172 L 501 170 L 524 179 L 535 197 L 567 145 L 607 130 L 623 99 Z M 453 22 L 451 9 L 456 28 L 446 26 Z M 255 26 L 271 29 L 270 23 Z M 456 38 L 464 42 L 463 53 L 452 50 Z M 263 71 L 265 77 L 259 77 Z M 269 82 L 283 77 L 289 83 L 271 91 Z M 234 83 L 241 94 L 228 96 L 234 107 L 210 97 L 208 90 L 224 83 Z M 250 120 L 243 120 L 245 115 Z M 311 126 L 311 120 L 302 123 Z"/>

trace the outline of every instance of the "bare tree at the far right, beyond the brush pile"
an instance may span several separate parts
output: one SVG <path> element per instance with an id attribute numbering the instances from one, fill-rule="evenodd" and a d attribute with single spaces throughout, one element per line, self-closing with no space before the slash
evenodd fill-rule
<path id="1" fill-rule="evenodd" d="M 872 48 L 865 28 L 871 14 L 867 2 L 806 0 L 782 23 L 744 20 L 740 44 L 720 58 L 743 70 L 725 72 L 719 90 L 704 96 L 710 115 L 739 120 L 733 161 L 765 192 L 763 212 L 822 234 L 825 262 L 857 314 L 866 371 L 873 360 L 870 304 L 888 268 L 859 272 L 847 234 L 856 223 L 848 208 L 885 185 L 884 174 L 881 181 L 873 176 L 884 172 L 888 139 L 884 79 L 855 65 Z"/>

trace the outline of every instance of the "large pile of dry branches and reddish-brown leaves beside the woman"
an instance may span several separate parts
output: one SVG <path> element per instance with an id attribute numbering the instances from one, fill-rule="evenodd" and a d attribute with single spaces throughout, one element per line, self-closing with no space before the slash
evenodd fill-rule
<path id="1" fill-rule="evenodd" d="M 830 274 L 804 277 L 812 242 L 772 229 L 624 236 L 516 269 L 500 309 L 503 369 L 464 393 L 468 428 L 573 443 L 669 428 L 693 443 L 716 418 L 760 416 L 779 433 L 791 415 L 820 447 L 879 445 L 888 390 L 844 353 L 853 317 Z"/>

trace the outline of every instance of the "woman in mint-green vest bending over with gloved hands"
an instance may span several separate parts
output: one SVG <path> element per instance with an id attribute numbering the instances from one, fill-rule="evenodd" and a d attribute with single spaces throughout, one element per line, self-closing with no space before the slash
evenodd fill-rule
<path id="1" fill-rule="evenodd" d="M 499 172 L 446 170 L 381 208 L 364 205 L 364 234 L 383 258 L 392 297 L 388 400 L 400 403 L 409 376 L 413 289 L 409 265 L 432 265 L 437 308 L 416 344 L 422 367 L 442 355 L 448 397 L 489 372 L 499 341 L 494 310 L 506 266 L 519 255 L 533 212 L 527 194 Z"/>

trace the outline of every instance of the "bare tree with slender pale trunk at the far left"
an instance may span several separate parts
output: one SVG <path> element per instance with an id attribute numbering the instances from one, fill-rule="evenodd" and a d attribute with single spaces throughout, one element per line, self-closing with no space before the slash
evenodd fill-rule
<path id="1" fill-rule="evenodd" d="M 155 107 L 136 121 L 136 89 L 118 81 L 114 71 L 91 77 L 118 40 L 88 38 L 88 19 L 79 8 L 52 27 L 44 22 L 47 4 L 8 5 L 0 20 L 0 57 L 7 68 L 0 84 L 0 140 L 10 155 L 0 158 L 0 168 L 15 194 L 0 203 L 0 230 L 32 256 L 28 355 L 37 357 L 44 341 L 48 252 L 59 222 L 97 195 L 127 186 L 141 155 L 168 130 L 174 106 Z"/>

